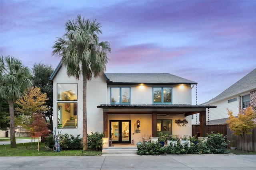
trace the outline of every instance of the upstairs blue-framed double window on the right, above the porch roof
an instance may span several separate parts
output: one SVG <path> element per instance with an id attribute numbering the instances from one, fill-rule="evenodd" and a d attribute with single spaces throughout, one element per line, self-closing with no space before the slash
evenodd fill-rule
<path id="1" fill-rule="evenodd" d="M 171 87 L 154 87 L 153 104 L 171 104 L 172 88 Z"/>

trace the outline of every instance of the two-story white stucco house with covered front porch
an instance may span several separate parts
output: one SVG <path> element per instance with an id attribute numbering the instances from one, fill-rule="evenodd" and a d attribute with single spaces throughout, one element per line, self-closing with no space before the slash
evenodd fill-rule
<path id="1" fill-rule="evenodd" d="M 53 81 L 54 127 L 82 134 L 82 77 L 68 77 L 60 63 Z M 194 81 L 172 74 L 110 74 L 87 81 L 87 132 L 103 132 L 113 143 L 137 143 L 158 131 L 191 135 L 191 115 L 201 113 L 200 134 L 206 134 L 206 109 L 192 106 Z M 188 121 L 183 126 L 175 120 Z"/>

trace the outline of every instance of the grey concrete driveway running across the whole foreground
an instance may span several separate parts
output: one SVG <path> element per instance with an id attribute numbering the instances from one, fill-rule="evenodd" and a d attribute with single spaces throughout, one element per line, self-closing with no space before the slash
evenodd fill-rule
<path id="1" fill-rule="evenodd" d="M 0 170 L 255 170 L 256 155 L 13 156 Z"/>

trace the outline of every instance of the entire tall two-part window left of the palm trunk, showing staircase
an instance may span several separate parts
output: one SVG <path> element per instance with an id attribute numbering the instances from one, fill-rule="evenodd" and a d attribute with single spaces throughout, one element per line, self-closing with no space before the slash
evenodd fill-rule
<path id="1" fill-rule="evenodd" d="M 57 83 L 58 128 L 77 128 L 77 83 Z"/>

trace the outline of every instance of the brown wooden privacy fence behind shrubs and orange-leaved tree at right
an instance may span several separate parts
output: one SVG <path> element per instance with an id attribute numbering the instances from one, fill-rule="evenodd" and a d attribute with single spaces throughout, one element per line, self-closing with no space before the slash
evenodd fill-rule
<path id="1" fill-rule="evenodd" d="M 224 136 L 227 135 L 228 141 L 232 141 L 232 133 L 227 125 L 206 125 L 206 133 L 221 133 Z M 250 130 L 251 135 L 245 135 L 244 137 L 244 150 L 250 152 L 256 152 L 256 128 Z M 192 136 L 199 133 L 199 125 L 192 125 Z M 198 134 L 199 135 L 199 134 Z M 242 138 L 237 136 L 236 138 L 236 148 L 242 150 Z M 228 146 L 229 148 L 230 146 Z"/>

